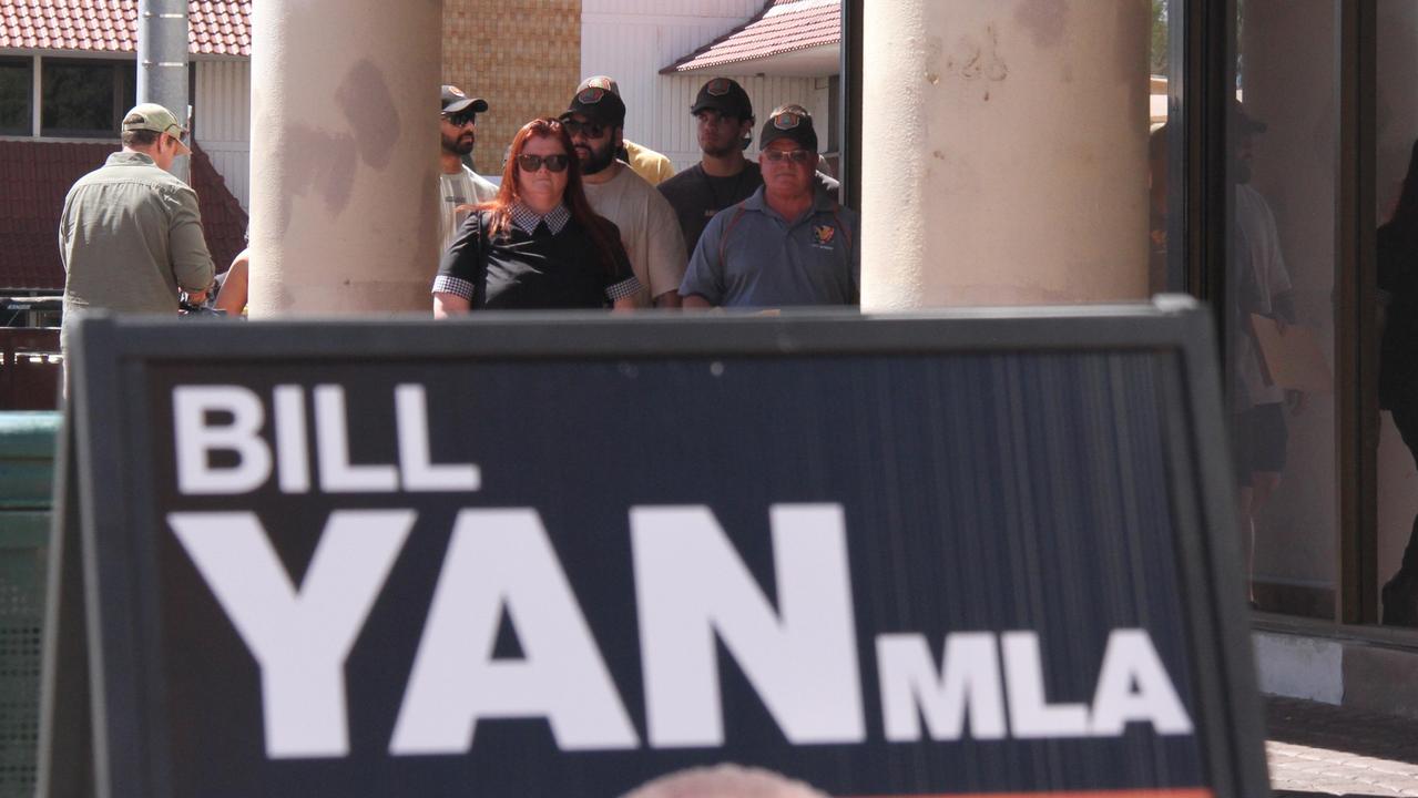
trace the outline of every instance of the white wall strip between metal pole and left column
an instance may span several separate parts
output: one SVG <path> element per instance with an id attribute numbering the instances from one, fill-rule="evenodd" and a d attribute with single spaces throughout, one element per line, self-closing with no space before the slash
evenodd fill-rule
<path id="1" fill-rule="evenodd" d="M 191 105 L 193 136 L 250 213 L 251 62 L 199 61 Z"/>

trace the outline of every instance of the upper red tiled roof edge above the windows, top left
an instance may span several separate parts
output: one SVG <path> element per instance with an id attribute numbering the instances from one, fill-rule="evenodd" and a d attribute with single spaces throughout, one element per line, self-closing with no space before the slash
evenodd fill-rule
<path id="1" fill-rule="evenodd" d="M 191 52 L 251 55 L 251 0 L 191 0 L 187 7 Z M 0 48 L 138 48 L 138 0 L 0 0 Z"/>

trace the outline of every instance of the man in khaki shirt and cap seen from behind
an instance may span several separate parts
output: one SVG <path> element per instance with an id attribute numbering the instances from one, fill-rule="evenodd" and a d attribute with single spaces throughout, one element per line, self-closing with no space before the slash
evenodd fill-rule
<path id="1" fill-rule="evenodd" d="M 166 108 L 133 108 L 123 116 L 122 152 L 79 177 L 64 198 L 65 352 L 71 323 L 89 309 L 176 316 L 180 292 L 193 305 L 206 299 L 214 269 L 197 194 L 167 173 L 191 152 L 186 136 Z"/>

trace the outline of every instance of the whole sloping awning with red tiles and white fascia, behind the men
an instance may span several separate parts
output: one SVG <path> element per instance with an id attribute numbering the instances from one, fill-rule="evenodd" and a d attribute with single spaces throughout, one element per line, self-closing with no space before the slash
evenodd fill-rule
<path id="1" fill-rule="evenodd" d="M 835 75 L 841 43 L 841 0 L 769 0 L 757 17 L 659 72 Z"/>

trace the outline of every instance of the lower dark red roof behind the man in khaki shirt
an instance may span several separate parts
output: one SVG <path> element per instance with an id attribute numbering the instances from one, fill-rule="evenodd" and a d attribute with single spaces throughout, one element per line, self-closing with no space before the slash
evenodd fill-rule
<path id="1" fill-rule="evenodd" d="M 64 288 L 58 244 L 64 196 L 113 150 L 108 142 L 0 142 L 0 291 Z M 207 248 L 223 271 L 245 247 L 247 214 L 200 146 L 193 147 L 191 184 Z"/>

